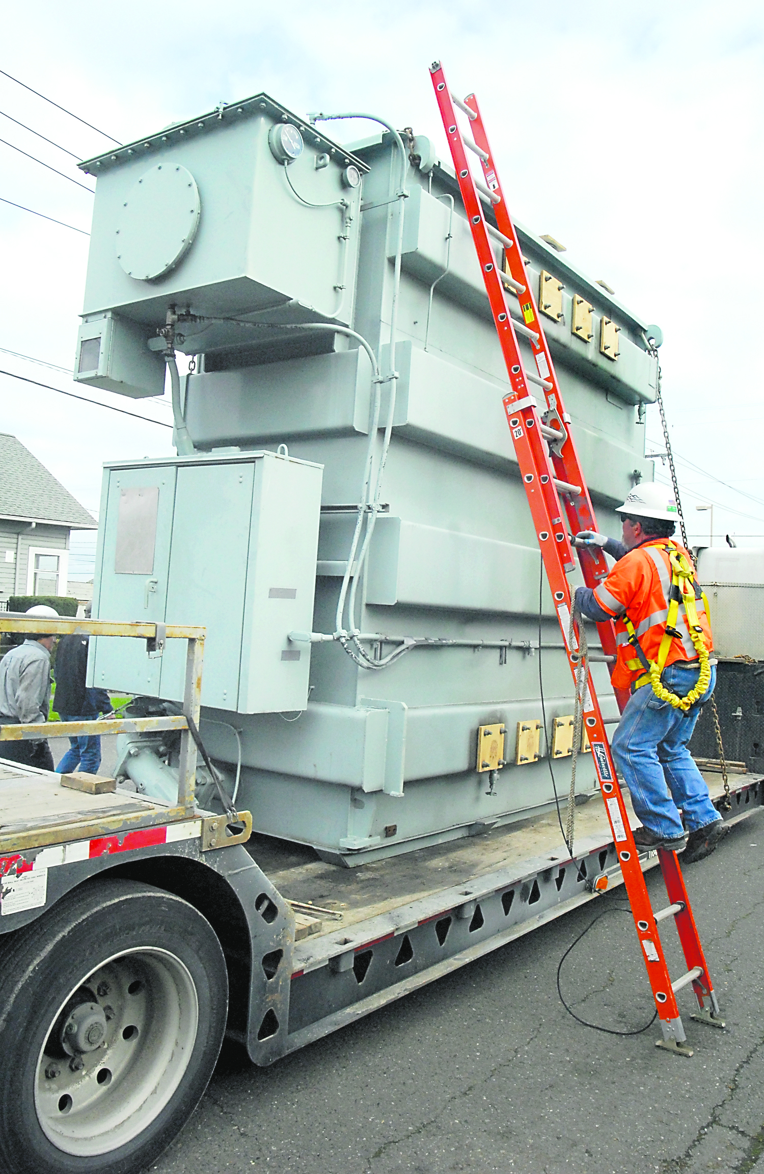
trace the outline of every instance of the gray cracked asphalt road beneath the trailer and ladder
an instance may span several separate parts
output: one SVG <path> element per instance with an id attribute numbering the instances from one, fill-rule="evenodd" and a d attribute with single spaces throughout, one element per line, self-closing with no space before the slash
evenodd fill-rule
<path id="1" fill-rule="evenodd" d="M 695 1057 L 576 1024 L 555 973 L 623 890 L 400 1003 L 259 1070 L 225 1054 L 160 1174 L 764 1174 L 764 812 L 685 877 L 726 1030 L 692 1023 Z M 661 877 L 649 879 L 664 903 Z M 678 946 L 663 940 L 672 972 Z M 651 1013 L 627 913 L 608 913 L 567 959 L 563 993 L 621 1031 Z"/>

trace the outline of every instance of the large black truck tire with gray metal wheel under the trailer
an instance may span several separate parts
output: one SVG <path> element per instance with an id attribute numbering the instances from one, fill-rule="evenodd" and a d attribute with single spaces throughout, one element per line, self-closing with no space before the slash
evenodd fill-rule
<path id="1" fill-rule="evenodd" d="M 144 1169 L 223 1041 L 228 973 L 209 922 L 150 885 L 94 879 L 0 957 L 0 1169 Z"/>

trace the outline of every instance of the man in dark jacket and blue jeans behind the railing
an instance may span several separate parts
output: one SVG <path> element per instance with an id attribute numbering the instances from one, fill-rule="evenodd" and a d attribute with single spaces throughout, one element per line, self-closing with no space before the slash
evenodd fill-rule
<path id="1" fill-rule="evenodd" d="M 89 616 L 90 608 L 86 610 Z M 106 689 L 88 689 L 84 683 L 88 668 L 89 636 L 63 636 L 55 654 L 55 708 L 62 722 L 83 722 L 99 714 L 111 714 L 114 707 Z M 56 770 L 68 775 L 84 770 L 97 775 L 101 765 L 101 738 L 97 734 L 81 734 L 69 738 L 69 749 Z"/>

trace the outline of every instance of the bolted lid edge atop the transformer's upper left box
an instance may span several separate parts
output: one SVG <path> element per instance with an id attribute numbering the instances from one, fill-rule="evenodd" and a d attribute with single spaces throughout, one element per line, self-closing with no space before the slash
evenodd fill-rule
<path id="1" fill-rule="evenodd" d="M 262 93 L 245 97 L 241 102 L 221 102 L 214 110 L 208 110 L 207 114 L 201 114 L 196 119 L 189 119 L 187 122 L 174 122 L 156 134 L 136 139 L 135 142 L 126 143 L 123 147 L 115 147 L 103 155 L 94 155 L 93 158 L 86 158 L 81 163 L 77 163 L 77 167 L 87 175 L 97 176 L 109 168 L 119 167 L 120 163 L 129 163 L 135 158 L 150 158 L 151 149 L 155 147 L 184 142 L 198 135 L 209 135 L 210 131 L 219 130 L 225 126 L 230 126 L 231 122 L 238 122 L 242 119 L 262 114 L 270 115 L 277 122 L 291 122 L 292 126 L 297 127 L 305 142 L 325 150 L 340 167 L 347 167 L 352 163 L 359 171 L 369 171 L 369 164 L 364 163 L 357 155 L 353 155 L 346 147 L 340 147 L 333 139 L 329 139 L 316 127 L 311 126 L 307 119 L 292 114 L 285 106 L 282 106 L 268 94 Z"/>

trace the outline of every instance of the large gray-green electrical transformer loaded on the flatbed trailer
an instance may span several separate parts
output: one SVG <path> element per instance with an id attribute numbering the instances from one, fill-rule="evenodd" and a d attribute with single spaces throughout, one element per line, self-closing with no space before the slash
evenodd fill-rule
<path id="1" fill-rule="evenodd" d="M 349 149 L 257 94 L 82 164 L 75 378 L 160 396 L 169 367 L 178 448 L 106 467 L 94 616 L 204 625 L 201 734 L 237 805 L 344 864 L 548 808 L 549 767 L 570 784 L 570 673 L 469 227 L 432 143 L 401 136 Z M 519 236 L 617 535 L 614 507 L 653 479 L 660 332 Z M 181 653 L 126 643 L 92 640 L 90 683 L 180 702 Z M 161 797 L 173 747 L 123 738 L 120 770 Z"/>

